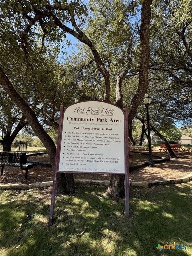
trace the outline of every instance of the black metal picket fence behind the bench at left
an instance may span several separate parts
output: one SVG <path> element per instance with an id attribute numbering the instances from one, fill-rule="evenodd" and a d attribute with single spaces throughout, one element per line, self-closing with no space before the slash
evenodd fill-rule
<path id="1" fill-rule="evenodd" d="M 18 141 L 15 140 L 12 143 L 6 142 L 0 144 L 0 151 L 3 151 L 3 149 L 6 149 L 5 151 L 11 151 L 11 152 L 24 152 L 27 151 L 27 141 Z"/>

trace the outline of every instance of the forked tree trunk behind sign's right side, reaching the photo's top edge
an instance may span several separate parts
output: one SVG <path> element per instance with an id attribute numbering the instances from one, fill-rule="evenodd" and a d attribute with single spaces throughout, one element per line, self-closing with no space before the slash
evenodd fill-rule
<path id="1" fill-rule="evenodd" d="M 149 57 L 150 57 L 150 48 L 149 48 L 149 24 L 151 17 L 151 4 L 152 1 L 144 1 L 142 3 L 142 11 L 141 11 L 141 64 L 140 64 L 140 72 L 139 72 L 139 87 L 134 95 L 132 102 L 130 104 L 128 110 L 128 120 L 131 121 L 133 117 L 137 113 L 138 106 L 140 105 L 145 93 L 146 89 L 149 85 L 148 80 L 148 68 L 149 68 Z M 129 67 L 128 67 L 129 68 Z M 122 99 L 122 78 L 127 74 L 128 69 L 125 70 L 122 74 L 120 74 L 117 78 L 116 83 L 116 105 L 119 107 L 123 107 L 123 99 Z M 129 129 L 131 126 L 129 126 Z M 129 135 L 130 140 L 133 140 L 132 134 L 130 132 Z M 135 142 L 134 142 L 135 144 Z M 109 187 L 107 189 L 106 194 L 109 195 L 114 200 L 117 200 L 119 197 L 124 195 L 124 175 L 111 175 L 111 180 Z"/>

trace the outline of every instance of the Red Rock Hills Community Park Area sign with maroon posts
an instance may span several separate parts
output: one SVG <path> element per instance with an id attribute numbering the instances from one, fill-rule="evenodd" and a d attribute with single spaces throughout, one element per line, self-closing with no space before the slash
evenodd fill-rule
<path id="1" fill-rule="evenodd" d="M 57 173 L 125 174 L 129 214 L 128 120 L 103 101 L 61 105 L 49 223 L 53 222 Z"/>

